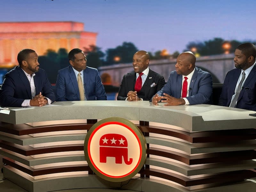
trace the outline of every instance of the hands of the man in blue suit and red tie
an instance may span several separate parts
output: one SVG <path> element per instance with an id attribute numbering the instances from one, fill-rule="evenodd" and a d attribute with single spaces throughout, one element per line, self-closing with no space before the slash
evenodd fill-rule
<path id="1" fill-rule="evenodd" d="M 161 100 L 165 99 L 165 100 Z M 161 100 L 161 102 L 166 103 L 164 106 L 176 106 L 176 105 L 185 105 L 185 100 L 176 97 L 172 97 L 171 95 L 168 95 L 167 93 L 164 93 L 164 96 L 159 96 L 158 94 L 155 95 L 152 99 L 152 103 L 154 105 L 158 105 L 158 102 Z"/>

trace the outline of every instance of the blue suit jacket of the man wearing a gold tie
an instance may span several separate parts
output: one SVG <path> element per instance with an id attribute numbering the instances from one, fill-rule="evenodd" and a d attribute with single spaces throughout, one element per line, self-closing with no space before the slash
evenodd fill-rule
<path id="1" fill-rule="evenodd" d="M 107 100 L 98 70 L 84 69 L 84 90 L 87 100 Z M 77 79 L 72 66 L 60 69 L 56 80 L 56 101 L 79 101 Z"/>

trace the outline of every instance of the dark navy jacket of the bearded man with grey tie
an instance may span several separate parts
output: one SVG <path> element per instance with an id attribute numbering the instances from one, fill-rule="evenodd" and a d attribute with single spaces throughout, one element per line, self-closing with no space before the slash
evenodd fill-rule
<path id="1" fill-rule="evenodd" d="M 229 106 L 236 89 L 236 83 L 241 74 L 241 69 L 229 71 L 225 77 L 220 95 L 219 105 Z M 246 78 L 237 99 L 236 108 L 256 111 L 256 65 Z"/>

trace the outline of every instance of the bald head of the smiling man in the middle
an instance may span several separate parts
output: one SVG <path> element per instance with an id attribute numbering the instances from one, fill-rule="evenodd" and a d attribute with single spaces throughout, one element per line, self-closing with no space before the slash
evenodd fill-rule
<path id="1" fill-rule="evenodd" d="M 133 69 L 136 73 L 143 72 L 146 68 L 148 68 L 149 64 L 149 54 L 146 51 L 138 51 L 134 53 L 132 59 Z"/>

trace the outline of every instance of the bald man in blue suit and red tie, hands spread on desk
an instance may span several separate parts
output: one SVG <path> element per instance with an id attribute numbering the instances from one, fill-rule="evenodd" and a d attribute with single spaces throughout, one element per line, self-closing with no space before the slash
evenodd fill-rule
<path id="1" fill-rule="evenodd" d="M 177 57 L 176 71 L 172 71 L 167 83 L 152 98 L 152 103 L 168 105 L 195 105 L 209 103 L 212 95 L 212 76 L 195 66 L 192 52 L 183 52 Z"/>

